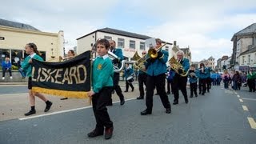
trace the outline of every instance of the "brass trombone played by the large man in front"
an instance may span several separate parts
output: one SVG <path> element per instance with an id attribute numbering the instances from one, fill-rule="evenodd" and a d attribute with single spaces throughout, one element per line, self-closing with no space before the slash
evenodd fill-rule
<path id="1" fill-rule="evenodd" d="M 144 62 L 146 62 L 146 60 L 148 58 L 153 58 L 153 59 L 158 58 L 158 51 L 161 50 L 163 46 L 166 46 L 166 44 L 167 44 L 167 42 L 164 43 L 162 46 L 158 47 L 157 49 L 150 49 L 150 50 L 148 50 L 148 53 L 145 54 L 142 58 L 139 58 L 137 60 L 137 62 L 135 62 L 134 66 L 139 68 L 142 65 L 144 65 Z"/>

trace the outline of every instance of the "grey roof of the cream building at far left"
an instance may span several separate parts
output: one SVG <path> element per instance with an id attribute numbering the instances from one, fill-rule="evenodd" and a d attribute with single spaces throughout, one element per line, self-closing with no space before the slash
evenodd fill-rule
<path id="1" fill-rule="evenodd" d="M 34 28 L 33 26 L 30 26 L 30 25 L 20 23 L 20 22 L 12 22 L 12 21 L 8 21 L 8 20 L 5 20 L 5 19 L 1 19 L 1 18 L 0 18 L 0 26 L 9 26 L 9 27 L 14 27 L 14 28 L 18 28 L 18 29 L 40 31 L 40 30 Z"/>

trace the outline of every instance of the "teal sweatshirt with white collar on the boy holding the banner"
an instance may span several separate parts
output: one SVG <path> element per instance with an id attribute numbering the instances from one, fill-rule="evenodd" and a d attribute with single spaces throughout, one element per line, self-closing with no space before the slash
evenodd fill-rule
<path id="1" fill-rule="evenodd" d="M 105 86 L 113 86 L 113 64 L 107 55 L 97 57 L 93 63 L 92 83 L 94 93 L 98 93 Z"/>

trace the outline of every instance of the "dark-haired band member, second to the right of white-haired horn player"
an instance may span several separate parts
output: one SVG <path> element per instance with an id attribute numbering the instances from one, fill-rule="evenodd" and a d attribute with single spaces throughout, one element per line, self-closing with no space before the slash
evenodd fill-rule
<path id="1" fill-rule="evenodd" d="M 206 94 L 206 80 L 207 80 L 207 71 L 205 64 L 200 63 L 200 67 L 198 69 L 198 86 L 199 86 L 199 94 Z"/>

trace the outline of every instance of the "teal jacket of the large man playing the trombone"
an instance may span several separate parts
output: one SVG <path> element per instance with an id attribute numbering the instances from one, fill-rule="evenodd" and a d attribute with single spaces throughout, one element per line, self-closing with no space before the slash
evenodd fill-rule
<path id="1" fill-rule="evenodd" d="M 146 62 L 146 74 L 150 76 L 158 76 L 159 74 L 165 74 L 167 71 L 166 62 L 168 61 L 169 54 L 166 50 L 161 50 L 162 57 L 157 58 L 154 62 Z M 146 55 L 146 58 L 149 56 Z"/>

